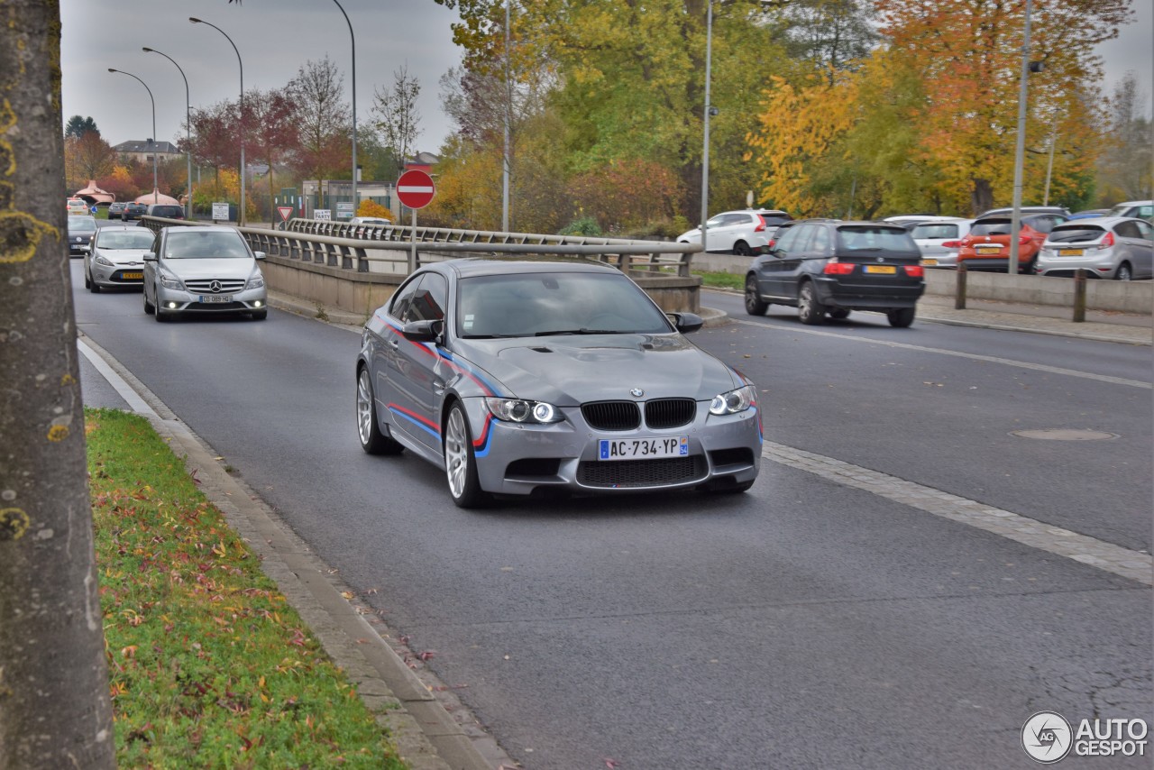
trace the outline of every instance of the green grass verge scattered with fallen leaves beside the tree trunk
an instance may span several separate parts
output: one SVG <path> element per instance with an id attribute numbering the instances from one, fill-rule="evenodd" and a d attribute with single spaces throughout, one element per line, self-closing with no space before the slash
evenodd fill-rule
<path id="1" fill-rule="evenodd" d="M 85 410 L 85 432 L 118 764 L 402 770 L 148 420 Z"/>

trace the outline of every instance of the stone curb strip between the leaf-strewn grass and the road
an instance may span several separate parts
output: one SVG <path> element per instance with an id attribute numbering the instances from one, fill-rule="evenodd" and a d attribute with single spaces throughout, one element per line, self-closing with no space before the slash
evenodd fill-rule
<path id="1" fill-rule="evenodd" d="M 81 352 L 137 414 L 185 462 L 209 501 L 261 560 L 261 569 L 300 614 L 324 651 L 357 687 L 377 724 L 412 770 L 494 770 L 518 767 L 480 723 L 380 618 L 337 570 L 248 486 L 225 471 L 217 453 L 155 394 L 83 332 Z M 88 350 L 84 350 L 84 349 Z"/>

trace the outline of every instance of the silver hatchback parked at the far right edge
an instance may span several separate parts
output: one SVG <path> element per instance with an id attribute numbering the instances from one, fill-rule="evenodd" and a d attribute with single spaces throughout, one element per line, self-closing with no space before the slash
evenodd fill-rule
<path id="1" fill-rule="evenodd" d="M 1078 269 L 1095 278 L 1154 277 L 1151 226 L 1145 219 L 1099 217 L 1058 225 L 1047 236 L 1034 272 L 1041 276 L 1073 276 Z"/>

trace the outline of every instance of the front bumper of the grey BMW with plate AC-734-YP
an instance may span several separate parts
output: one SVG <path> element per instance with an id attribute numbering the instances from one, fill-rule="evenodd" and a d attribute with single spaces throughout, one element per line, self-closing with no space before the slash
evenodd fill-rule
<path id="1" fill-rule="evenodd" d="M 710 414 L 699 403 L 694 420 L 676 428 L 599 431 L 579 408 L 564 408 L 565 419 L 550 425 L 504 423 L 482 399 L 465 399 L 474 436 L 481 488 L 526 495 L 559 489 L 577 494 L 624 494 L 702 485 L 739 485 L 757 478 L 762 425 L 757 408 L 739 414 Z M 683 456 L 655 459 L 598 458 L 601 439 L 687 436 Z"/>

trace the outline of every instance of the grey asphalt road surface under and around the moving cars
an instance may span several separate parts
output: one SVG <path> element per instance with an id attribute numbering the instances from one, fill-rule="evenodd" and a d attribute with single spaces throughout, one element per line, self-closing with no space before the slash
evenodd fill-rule
<path id="1" fill-rule="evenodd" d="M 85 292 L 80 260 L 73 281 L 81 331 L 376 589 L 526 768 L 1026 768 L 1035 711 L 1152 712 L 1147 586 L 769 459 L 732 498 L 459 510 L 434 468 L 361 453 L 355 334 L 158 324 L 138 292 Z M 767 440 L 1149 550 L 1148 347 L 739 301 L 711 294 L 737 322 L 692 338 L 758 383 Z M 85 402 L 119 405 L 95 377 Z"/>

